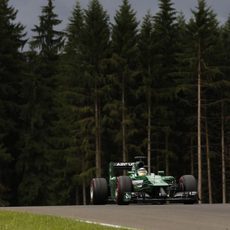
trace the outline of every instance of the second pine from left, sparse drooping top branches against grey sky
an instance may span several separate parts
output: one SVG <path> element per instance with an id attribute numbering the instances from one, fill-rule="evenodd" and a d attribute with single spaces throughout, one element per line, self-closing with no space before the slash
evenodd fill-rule
<path id="1" fill-rule="evenodd" d="M 57 159 L 55 121 L 57 121 L 56 74 L 63 32 L 55 30 L 61 21 L 54 13 L 52 0 L 42 7 L 39 24 L 31 41 L 28 65 L 30 74 L 24 84 L 27 99 L 22 113 L 24 121 L 23 154 L 18 163 L 21 173 L 19 196 L 21 204 L 53 203 Z M 59 153 L 59 152 L 58 152 Z M 25 193 L 25 191 L 27 191 Z"/>

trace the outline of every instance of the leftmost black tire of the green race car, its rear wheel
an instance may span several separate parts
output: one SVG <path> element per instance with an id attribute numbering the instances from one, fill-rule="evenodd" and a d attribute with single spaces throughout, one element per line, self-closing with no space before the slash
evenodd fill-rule
<path id="1" fill-rule="evenodd" d="M 106 204 L 108 200 L 108 184 L 105 178 L 93 178 L 90 184 L 91 204 Z"/>

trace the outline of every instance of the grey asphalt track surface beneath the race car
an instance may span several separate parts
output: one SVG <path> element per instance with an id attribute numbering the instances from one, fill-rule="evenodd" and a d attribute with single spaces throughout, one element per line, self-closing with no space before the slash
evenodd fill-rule
<path id="1" fill-rule="evenodd" d="M 7 207 L 142 230 L 230 230 L 230 204 Z"/>

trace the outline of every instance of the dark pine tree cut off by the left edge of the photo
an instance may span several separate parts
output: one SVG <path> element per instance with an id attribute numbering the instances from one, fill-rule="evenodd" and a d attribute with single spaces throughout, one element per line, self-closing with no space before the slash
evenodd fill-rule
<path id="1" fill-rule="evenodd" d="M 0 1 L 0 205 L 15 204 L 14 162 L 19 157 L 21 79 L 25 44 L 24 26 L 16 23 L 17 10 Z"/>

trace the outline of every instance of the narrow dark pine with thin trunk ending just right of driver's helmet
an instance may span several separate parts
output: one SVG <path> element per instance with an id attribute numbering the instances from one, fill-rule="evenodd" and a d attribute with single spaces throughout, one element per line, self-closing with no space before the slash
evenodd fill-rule
<path id="1" fill-rule="evenodd" d="M 138 90 L 140 102 L 138 103 L 138 113 L 140 114 L 138 125 L 142 135 L 141 150 L 148 155 L 148 170 L 151 170 L 151 159 L 153 150 L 152 144 L 152 113 L 155 103 L 153 82 L 154 82 L 154 39 L 153 39 L 153 17 L 150 12 L 146 14 L 141 25 L 139 37 L 140 69 L 142 82 Z M 143 125 L 145 124 L 145 125 Z"/>

